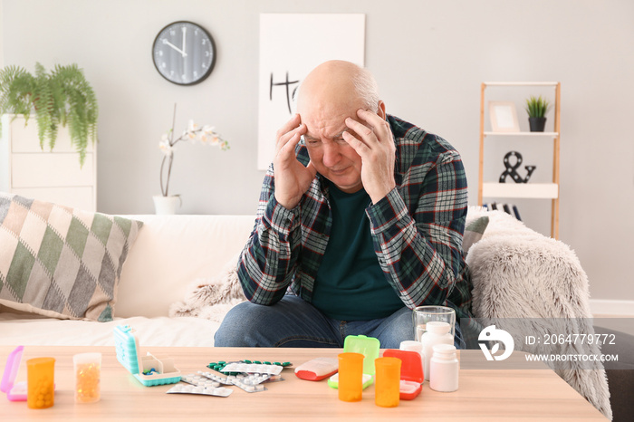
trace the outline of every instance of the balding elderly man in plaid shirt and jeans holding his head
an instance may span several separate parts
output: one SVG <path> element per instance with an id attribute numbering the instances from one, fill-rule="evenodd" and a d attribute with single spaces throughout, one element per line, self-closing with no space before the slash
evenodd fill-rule
<path id="1" fill-rule="evenodd" d="M 250 302 L 226 315 L 216 346 L 341 348 L 363 334 L 398 349 L 414 336 L 411 308 L 470 317 L 456 149 L 386 114 L 370 72 L 350 62 L 315 68 L 297 111 L 277 132 L 238 264 Z"/>

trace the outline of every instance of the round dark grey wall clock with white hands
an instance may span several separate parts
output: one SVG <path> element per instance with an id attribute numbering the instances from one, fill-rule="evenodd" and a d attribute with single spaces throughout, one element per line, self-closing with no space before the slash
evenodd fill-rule
<path id="1" fill-rule="evenodd" d="M 157 70 L 169 82 L 193 85 L 204 81 L 216 63 L 216 45 L 205 29 L 175 22 L 161 29 L 152 47 Z"/>

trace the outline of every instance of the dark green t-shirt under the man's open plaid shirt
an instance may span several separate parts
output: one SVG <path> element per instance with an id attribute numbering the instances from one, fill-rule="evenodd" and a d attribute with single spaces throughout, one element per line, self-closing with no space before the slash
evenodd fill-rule
<path id="1" fill-rule="evenodd" d="M 342 192 L 329 183 L 331 235 L 317 272 L 312 304 L 335 320 L 386 318 L 405 304 L 380 269 L 365 208 L 370 196 L 361 189 Z"/>

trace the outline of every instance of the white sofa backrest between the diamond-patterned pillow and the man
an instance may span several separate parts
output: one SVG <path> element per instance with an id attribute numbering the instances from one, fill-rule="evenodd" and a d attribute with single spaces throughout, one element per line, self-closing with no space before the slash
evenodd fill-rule
<path id="1" fill-rule="evenodd" d="M 168 316 L 187 286 L 216 276 L 235 258 L 255 222 L 254 216 L 128 217 L 144 225 L 121 272 L 114 315 L 123 318 Z"/>

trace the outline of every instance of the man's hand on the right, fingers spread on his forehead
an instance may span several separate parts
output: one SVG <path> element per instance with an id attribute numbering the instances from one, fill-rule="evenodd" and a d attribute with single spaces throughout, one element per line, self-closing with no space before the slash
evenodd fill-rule
<path id="1" fill-rule="evenodd" d="M 372 203 L 376 204 L 389 191 L 396 187 L 394 180 L 394 160 L 396 147 L 389 123 L 377 113 L 368 110 L 357 110 L 361 121 L 346 119 L 346 126 L 354 130 L 359 138 L 350 132 L 343 132 L 343 139 L 348 142 L 361 158 L 361 183 Z"/>

